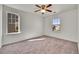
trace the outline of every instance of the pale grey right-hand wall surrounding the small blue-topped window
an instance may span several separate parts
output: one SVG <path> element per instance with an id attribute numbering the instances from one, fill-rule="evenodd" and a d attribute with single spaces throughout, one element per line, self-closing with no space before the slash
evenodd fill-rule
<path id="1" fill-rule="evenodd" d="M 77 42 L 77 9 L 68 10 L 58 14 L 61 19 L 61 31 L 53 32 L 51 29 L 52 16 L 45 19 L 45 35 Z"/>

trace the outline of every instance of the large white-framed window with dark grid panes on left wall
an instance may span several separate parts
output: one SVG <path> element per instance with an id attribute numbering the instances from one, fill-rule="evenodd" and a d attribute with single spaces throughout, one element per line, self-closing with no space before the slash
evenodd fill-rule
<path id="1" fill-rule="evenodd" d="M 7 13 L 8 33 L 20 33 L 20 17 L 15 13 Z"/>

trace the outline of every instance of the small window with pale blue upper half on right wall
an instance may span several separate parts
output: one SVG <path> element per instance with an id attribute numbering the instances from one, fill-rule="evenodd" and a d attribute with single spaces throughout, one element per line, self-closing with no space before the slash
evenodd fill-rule
<path id="1" fill-rule="evenodd" d="M 58 17 L 53 18 L 52 31 L 60 31 L 60 18 L 58 18 Z"/>

